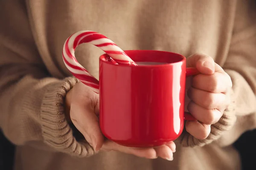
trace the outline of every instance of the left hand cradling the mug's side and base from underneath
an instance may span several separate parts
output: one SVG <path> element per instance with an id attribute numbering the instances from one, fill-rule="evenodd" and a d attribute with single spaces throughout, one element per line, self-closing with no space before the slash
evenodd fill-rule
<path id="1" fill-rule="evenodd" d="M 176 148 L 174 142 L 155 148 L 131 148 L 104 140 L 98 119 L 99 94 L 81 82 L 78 82 L 67 93 L 65 107 L 67 120 L 73 122 L 95 151 L 115 150 L 148 159 L 155 159 L 159 156 L 163 159 L 173 160 L 173 152 Z"/>

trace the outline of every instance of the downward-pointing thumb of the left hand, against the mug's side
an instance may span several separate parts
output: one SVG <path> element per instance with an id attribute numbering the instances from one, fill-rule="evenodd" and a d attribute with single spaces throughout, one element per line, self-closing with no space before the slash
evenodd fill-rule
<path id="1" fill-rule="evenodd" d="M 83 102 L 73 102 L 70 107 L 70 118 L 81 128 L 79 130 L 94 150 L 99 150 L 103 144 L 103 136 L 99 127 L 99 119 L 95 114 L 93 97 L 84 98 Z M 98 106 L 96 106 L 98 107 Z"/>

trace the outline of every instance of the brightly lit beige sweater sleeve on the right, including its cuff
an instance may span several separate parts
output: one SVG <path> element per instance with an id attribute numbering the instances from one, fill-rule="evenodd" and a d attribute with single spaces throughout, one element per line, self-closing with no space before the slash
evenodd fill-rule
<path id="1" fill-rule="evenodd" d="M 246 2 L 246 3 L 245 3 Z M 232 144 L 246 130 L 256 128 L 256 2 L 238 1 L 229 53 L 223 65 L 233 87 L 231 104 L 221 119 L 211 125 L 207 139 L 195 139 L 185 132 L 181 144 L 185 147 L 204 146 L 211 142 Z"/>

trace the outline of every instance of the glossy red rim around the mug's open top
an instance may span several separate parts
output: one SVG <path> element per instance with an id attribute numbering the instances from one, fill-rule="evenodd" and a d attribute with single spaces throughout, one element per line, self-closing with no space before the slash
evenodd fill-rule
<path id="1" fill-rule="evenodd" d="M 168 66 L 173 66 L 173 65 L 177 65 L 179 63 L 183 63 L 186 61 L 186 57 L 184 57 L 183 55 L 181 54 L 178 54 L 178 53 L 174 53 L 174 52 L 170 52 L 170 51 L 160 51 L 160 50 L 124 50 L 124 52 L 129 52 L 129 51 L 154 51 L 154 52 L 163 52 L 163 53 L 170 53 L 170 54 L 175 54 L 176 56 L 180 57 L 181 60 L 178 61 L 178 62 L 172 62 L 172 63 L 164 63 L 164 64 L 157 64 L 157 65 L 137 65 L 136 67 L 168 67 Z M 106 61 L 106 56 L 108 54 L 102 54 L 100 57 L 99 57 L 99 60 L 100 62 L 105 62 L 106 64 L 110 64 L 110 65 L 113 65 L 113 66 L 116 66 L 116 67 L 134 67 L 134 65 L 119 65 L 119 64 L 112 64 L 111 62 L 109 61 Z"/>

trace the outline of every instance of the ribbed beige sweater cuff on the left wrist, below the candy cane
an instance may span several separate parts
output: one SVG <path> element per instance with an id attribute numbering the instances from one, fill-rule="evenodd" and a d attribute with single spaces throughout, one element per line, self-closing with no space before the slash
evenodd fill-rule
<path id="1" fill-rule="evenodd" d="M 55 150 L 72 156 L 90 156 L 90 144 L 77 142 L 64 114 L 64 98 L 77 82 L 69 77 L 47 85 L 41 105 L 41 125 L 44 142 Z"/>

